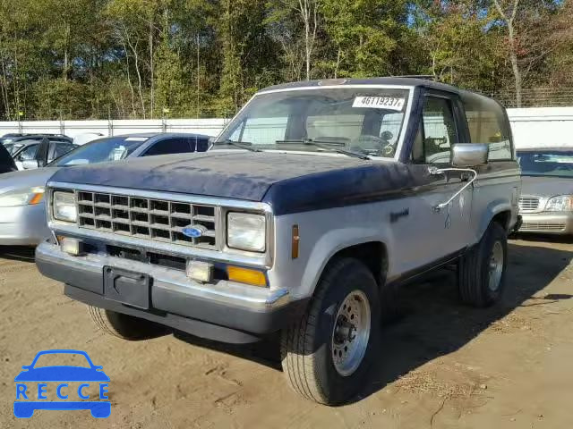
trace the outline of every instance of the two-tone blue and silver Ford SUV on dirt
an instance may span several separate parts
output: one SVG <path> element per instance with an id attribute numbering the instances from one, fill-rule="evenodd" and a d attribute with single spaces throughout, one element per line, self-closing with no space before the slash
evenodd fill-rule
<path id="1" fill-rule="evenodd" d="M 127 340 L 280 332 L 287 382 L 338 404 L 368 383 L 397 285 L 457 263 L 464 302 L 500 300 L 519 189 L 487 97 L 293 83 L 258 92 L 205 154 L 56 172 L 36 263 Z"/>

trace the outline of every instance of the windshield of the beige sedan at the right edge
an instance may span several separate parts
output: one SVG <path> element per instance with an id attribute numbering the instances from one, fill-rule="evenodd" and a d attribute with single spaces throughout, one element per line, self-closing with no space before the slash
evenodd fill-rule
<path id="1" fill-rule="evenodd" d="M 573 178 L 573 150 L 517 152 L 524 176 L 552 176 Z"/>

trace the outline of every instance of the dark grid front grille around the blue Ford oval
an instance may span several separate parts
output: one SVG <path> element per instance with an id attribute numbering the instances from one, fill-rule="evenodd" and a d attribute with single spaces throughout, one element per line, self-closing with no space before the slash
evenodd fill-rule
<path id="1" fill-rule="evenodd" d="M 118 235 L 170 242 L 199 248 L 217 248 L 215 206 L 101 192 L 77 193 L 78 226 Z M 202 226 L 201 237 L 183 230 Z"/>

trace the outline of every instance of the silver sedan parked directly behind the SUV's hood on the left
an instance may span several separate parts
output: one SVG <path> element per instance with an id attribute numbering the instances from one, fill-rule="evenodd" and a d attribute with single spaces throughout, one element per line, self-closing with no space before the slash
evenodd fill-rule
<path id="1" fill-rule="evenodd" d="M 49 235 L 44 186 L 60 168 L 138 156 L 206 150 L 208 137 L 195 134 L 131 134 L 77 147 L 45 168 L 0 176 L 0 246 L 35 246 Z"/>

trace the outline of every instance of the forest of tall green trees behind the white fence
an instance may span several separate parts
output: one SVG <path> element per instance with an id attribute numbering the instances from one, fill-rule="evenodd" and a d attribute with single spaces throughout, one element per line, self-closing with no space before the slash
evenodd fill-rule
<path id="1" fill-rule="evenodd" d="M 573 105 L 573 0 L 0 0 L 0 121 L 229 117 L 280 82 L 413 74 Z"/>

